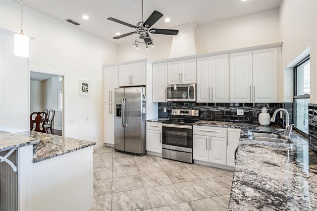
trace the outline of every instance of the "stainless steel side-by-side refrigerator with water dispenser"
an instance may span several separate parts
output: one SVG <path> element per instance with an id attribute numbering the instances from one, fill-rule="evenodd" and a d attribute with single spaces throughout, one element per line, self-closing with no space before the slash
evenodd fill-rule
<path id="1" fill-rule="evenodd" d="M 114 89 L 114 149 L 146 154 L 145 87 Z"/>

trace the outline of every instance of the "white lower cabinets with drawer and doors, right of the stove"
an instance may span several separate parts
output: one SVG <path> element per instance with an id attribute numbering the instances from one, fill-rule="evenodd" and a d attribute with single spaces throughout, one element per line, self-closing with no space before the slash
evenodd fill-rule
<path id="1" fill-rule="evenodd" d="M 235 150 L 240 129 L 194 126 L 193 159 L 219 165 L 235 166 Z"/>

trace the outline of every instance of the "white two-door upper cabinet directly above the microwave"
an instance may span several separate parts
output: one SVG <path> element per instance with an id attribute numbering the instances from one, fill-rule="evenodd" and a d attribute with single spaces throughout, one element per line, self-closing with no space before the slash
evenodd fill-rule
<path id="1" fill-rule="evenodd" d="M 167 84 L 196 83 L 196 58 L 167 62 Z"/>

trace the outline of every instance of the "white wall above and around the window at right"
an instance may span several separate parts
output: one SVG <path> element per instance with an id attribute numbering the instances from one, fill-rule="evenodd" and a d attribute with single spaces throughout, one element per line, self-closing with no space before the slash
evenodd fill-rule
<path id="1" fill-rule="evenodd" d="M 310 47 L 311 103 L 317 103 L 317 1 L 284 0 L 280 5 L 282 68 Z M 291 71 L 291 68 L 285 69 Z M 286 72 L 285 72 L 286 73 Z"/>

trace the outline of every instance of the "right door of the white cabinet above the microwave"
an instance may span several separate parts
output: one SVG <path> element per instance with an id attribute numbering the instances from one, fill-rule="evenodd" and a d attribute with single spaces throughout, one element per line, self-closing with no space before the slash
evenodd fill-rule
<path id="1" fill-rule="evenodd" d="M 196 83 L 196 58 L 181 61 L 181 83 Z"/>

